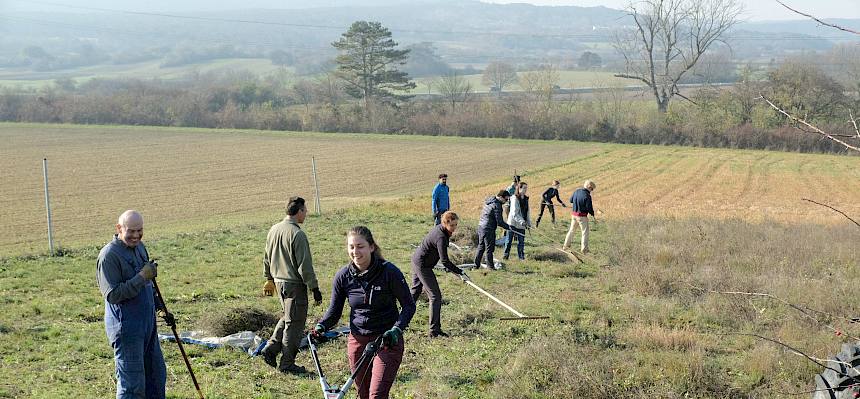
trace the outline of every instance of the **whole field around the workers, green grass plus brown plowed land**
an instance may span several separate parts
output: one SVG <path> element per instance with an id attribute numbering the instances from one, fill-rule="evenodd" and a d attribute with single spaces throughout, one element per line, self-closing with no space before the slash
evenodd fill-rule
<path id="1" fill-rule="evenodd" d="M 504 310 L 441 275 L 443 326 L 452 337 L 426 338 L 427 306 L 420 303 L 394 398 L 809 396 L 801 392 L 811 389 L 817 366 L 739 334 L 770 337 L 817 358 L 860 336 L 856 324 L 840 317 L 860 311 L 850 299 L 860 283 L 860 229 L 801 201 L 826 202 L 856 219 L 860 189 L 847 183 L 860 177 L 854 157 L 11 124 L 0 127 L 0 138 L 11 144 L 0 149 L 0 236 L 35 240 L 7 241 L 5 254 L 44 247 L 41 228 L 30 232 L 6 222 L 32 215 L 18 224 L 43 226 L 44 209 L 21 205 L 41 201 L 42 156 L 56 171 L 52 195 L 66 198 L 56 200 L 66 207 L 63 217 L 57 210 L 58 223 L 81 232 L 62 257 L 0 257 L 0 375 L 18 376 L 0 382 L 0 397 L 112 395 L 113 361 L 93 272 L 113 219 L 127 207 L 147 217 L 145 240 L 161 259 L 160 285 L 180 329 L 198 328 L 232 308 L 276 312 L 277 302 L 259 293 L 265 233 L 281 218 L 284 196 L 309 196 L 307 164 L 322 150 L 317 159 L 329 211 L 309 218 L 305 229 L 324 291 L 346 261 L 343 234 L 355 224 L 370 226 L 386 257 L 408 274 L 411 244 L 430 228 L 427 197 L 440 165 L 446 165 L 454 208 L 466 227 L 474 226 L 480 200 L 507 184 L 511 159 L 526 171 L 533 198 L 553 178 L 566 195 L 584 178 L 598 184 L 594 199 L 602 223 L 585 264 L 553 252 L 566 226 L 544 222 L 528 239 L 526 261 L 471 273 L 523 313 L 550 320 L 499 321 Z M 120 151 L 130 139 L 143 149 L 139 155 Z M 442 147 L 455 150 L 446 158 L 439 155 Z M 290 158 L 303 159 L 300 175 L 292 173 Z M 119 183 L 127 187 L 104 188 Z M 807 317 L 778 300 L 708 290 L 767 292 L 821 313 Z M 312 308 L 309 320 L 322 311 Z M 162 347 L 169 397 L 193 397 L 178 351 Z M 343 340 L 320 347 L 330 380 L 344 378 L 344 348 Z M 312 378 L 279 375 L 239 351 L 188 350 L 207 398 L 319 395 Z M 306 353 L 299 359 L 311 365 Z"/>

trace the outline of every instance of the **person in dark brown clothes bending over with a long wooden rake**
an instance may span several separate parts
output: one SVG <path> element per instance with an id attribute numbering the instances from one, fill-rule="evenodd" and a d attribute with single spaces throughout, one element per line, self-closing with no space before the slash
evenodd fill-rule
<path id="1" fill-rule="evenodd" d="M 448 258 L 448 242 L 457 230 L 460 218 L 456 213 L 448 211 L 442 214 L 442 223 L 430 229 L 424 236 L 421 245 L 412 254 L 412 299 L 418 301 L 421 291 L 427 293 L 430 300 L 430 338 L 447 337 L 442 331 L 442 291 L 439 282 L 433 274 L 433 267 L 441 262 L 448 271 L 468 278 L 451 259 Z"/>

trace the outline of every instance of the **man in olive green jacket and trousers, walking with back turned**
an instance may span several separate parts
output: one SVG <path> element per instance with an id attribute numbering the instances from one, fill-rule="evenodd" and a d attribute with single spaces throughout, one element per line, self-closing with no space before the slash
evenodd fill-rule
<path id="1" fill-rule="evenodd" d="M 305 200 L 291 197 L 287 201 L 287 217 L 269 229 L 263 256 L 263 274 L 266 276 L 263 294 L 271 296 L 277 291 L 284 307 L 284 316 L 278 320 L 272 337 L 262 350 L 263 360 L 275 367 L 278 353 L 281 353 L 278 369 L 291 374 L 307 373 L 304 367 L 296 365 L 296 354 L 308 317 L 308 290 L 313 292 L 317 305 L 322 303 L 308 238 L 299 227 L 307 214 Z"/>

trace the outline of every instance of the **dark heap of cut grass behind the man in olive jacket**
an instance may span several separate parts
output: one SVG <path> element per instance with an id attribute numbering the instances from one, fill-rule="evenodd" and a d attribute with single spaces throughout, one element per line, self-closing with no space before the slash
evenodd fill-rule
<path id="1" fill-rule="evenodd" d="M 280 316 L 259 308 L 232 308 L 205 313 L 197 327 L 218 337 L 240 331 L 254 331 L 260 335 L 264 331 L 271 331 L 279 319 Z"/>

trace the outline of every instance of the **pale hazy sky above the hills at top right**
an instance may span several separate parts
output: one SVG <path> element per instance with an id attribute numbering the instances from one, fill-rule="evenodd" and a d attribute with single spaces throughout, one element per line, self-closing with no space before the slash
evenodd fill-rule
<path id="1" fill-rule="evenodd" d="M 624 8 L 628 0 L 482 0 L 491 3 L 531 3 L 555 6 L 605 6 Z M 803 18 L 786 10 L 774 0 L 741 0 L 747 10 L 746 18 L 754 21 Z M 798 11 L 821 18 L 860 18 L 860 0 L 784 0 Z"/>

